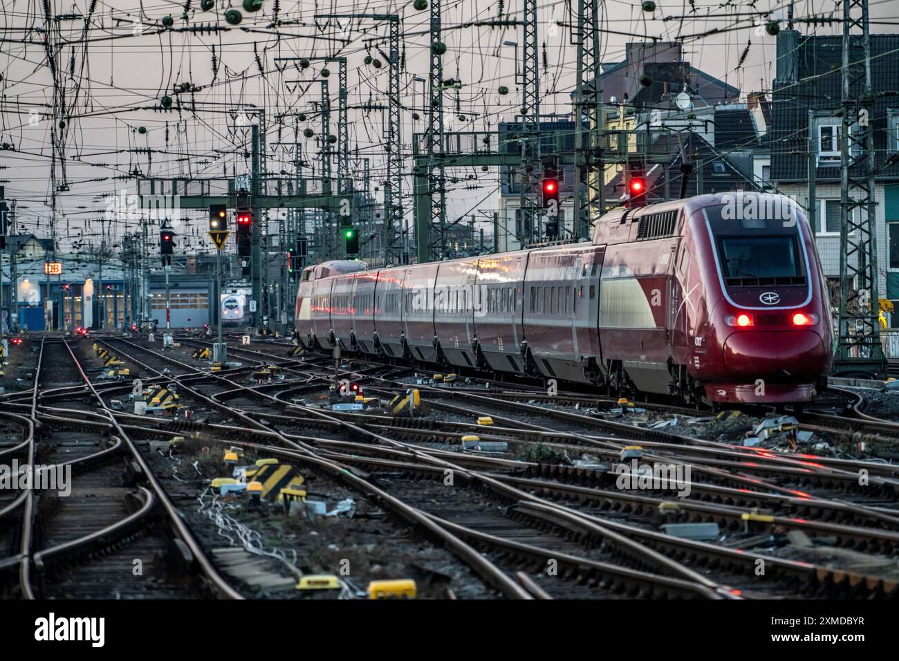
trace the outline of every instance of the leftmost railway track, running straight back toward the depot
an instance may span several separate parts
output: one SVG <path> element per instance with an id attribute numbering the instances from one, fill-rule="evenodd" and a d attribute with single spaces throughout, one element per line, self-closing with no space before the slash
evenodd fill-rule
<path id="1" fill-rule="evenodd" d="M 21 418 L 28 423 L 22 450 L 35 483 L 18 496 L 19 552 L 0 563 L 7 589 L 27 598 L 240 598 L 108 410 L 105 422 L 89 430 L 78 408 L 71 416 L 40 414 L 43 389 L 52 393 L 78 381 L 105 410 L 71 346 L 44 338 L 29 415 Z M 55 479 L 41 479 L 49 477 Z M 11 588 L 13 567 L 18 585 Z"/>

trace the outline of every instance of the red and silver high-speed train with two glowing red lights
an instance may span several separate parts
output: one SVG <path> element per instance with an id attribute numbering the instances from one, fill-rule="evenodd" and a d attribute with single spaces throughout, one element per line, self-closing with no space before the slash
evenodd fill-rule
<path id="1" fill-rule="evenodd" d="M 802 210 L 754 192 L 613 210 L 592 242 L 367 270 L 309 266 L 301 344 L 684 402 L 800 403 L 832 363 Z"/>

